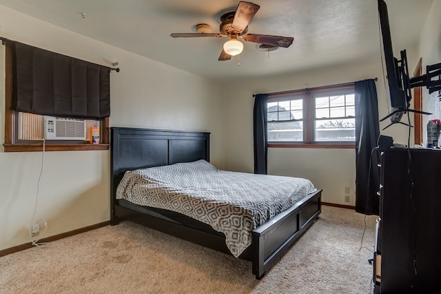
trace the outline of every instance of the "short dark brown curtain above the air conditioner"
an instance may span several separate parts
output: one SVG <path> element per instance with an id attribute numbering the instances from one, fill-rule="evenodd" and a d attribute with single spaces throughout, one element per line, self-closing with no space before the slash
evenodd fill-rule
<path id="1" fill-rule="evenodd" d="M 110 68 L 13 42 L 12 110 L 37 115 L 110 116 Z"/>

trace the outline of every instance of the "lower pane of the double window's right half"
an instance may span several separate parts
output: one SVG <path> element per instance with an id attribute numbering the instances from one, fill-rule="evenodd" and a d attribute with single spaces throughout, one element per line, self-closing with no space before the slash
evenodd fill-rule
<path id="1" fill-rule="evenodd" d="M 355 141 L 355 119 L 316 121 L 316 141 Z"/>

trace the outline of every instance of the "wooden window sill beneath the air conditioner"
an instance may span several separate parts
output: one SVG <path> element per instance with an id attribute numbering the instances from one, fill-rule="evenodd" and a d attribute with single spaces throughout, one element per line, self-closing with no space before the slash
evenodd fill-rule
<path id="1" fill-rule="evenodd" d="M 5 152 L 43 151 L 43 144 L 3 144 Z M 109 144 L 45 144 L 45 151 L 109 150 Z"/>

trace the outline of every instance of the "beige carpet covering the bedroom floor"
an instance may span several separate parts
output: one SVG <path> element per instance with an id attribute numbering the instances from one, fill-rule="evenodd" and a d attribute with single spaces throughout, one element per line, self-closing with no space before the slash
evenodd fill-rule
<path id="1" fill-rule="evenodd" d="M 364 218 L 323 206 L 260 281 L 250 262 L 122 222 L 0 257 L 0 293 L 371 293 Z"/>

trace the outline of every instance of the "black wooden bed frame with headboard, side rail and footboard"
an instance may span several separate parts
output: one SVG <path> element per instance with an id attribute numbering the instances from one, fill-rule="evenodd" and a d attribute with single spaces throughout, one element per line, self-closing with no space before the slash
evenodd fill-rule
<path id="1" fill-rule="evenodd" d="M 157 231 L 230 254 L 225 236 L 200 231 L 165 219 L 130 210 L 118 204 L 116 187 L 127 170 L 165 166 L 198 159 L 209 161 L 209 133 L 141 128 L 111 128 L 110 224 L 128 219 Z M 252 245 L 240 258 L 252 262 L 252 273 L 265 271 L 293 244 L 321 213 L 321 191 L 309 194 L 252 231 Z"/>

